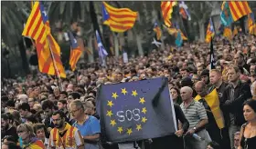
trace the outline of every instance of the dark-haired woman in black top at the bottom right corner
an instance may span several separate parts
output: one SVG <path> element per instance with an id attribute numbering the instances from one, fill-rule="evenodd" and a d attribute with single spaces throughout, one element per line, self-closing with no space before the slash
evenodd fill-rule
<path id="1" fill-rule="evenodd" d="M 248 100 L 243 104 L 243 115 L 247 121 L 240 129 L 240 146 L 238 149 L 256 148 L 256 101 Z"/>

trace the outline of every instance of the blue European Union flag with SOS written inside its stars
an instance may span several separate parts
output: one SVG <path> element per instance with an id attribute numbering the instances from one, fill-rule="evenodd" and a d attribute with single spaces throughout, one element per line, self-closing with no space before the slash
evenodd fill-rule
<path id="1" fill-rule="evenodd" d="M 143 140 L 176 132 L 175 112 L 165 77 L 101 85 L 97 113 L 107 142 Z"/>

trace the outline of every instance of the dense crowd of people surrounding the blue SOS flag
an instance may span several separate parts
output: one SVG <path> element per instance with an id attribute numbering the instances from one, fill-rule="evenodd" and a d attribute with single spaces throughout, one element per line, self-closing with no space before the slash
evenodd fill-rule
<path id="1" fill-rule="evenodd" d="M 165 51 L 130 57 L 128 63 L 107 58 L 107 67 L 80 65 L 78 73 L 68 72 L 61 80 L 40 73 L 4 78 L 2 148 L 255 149 L 256 38 L 216 37 L 213 45 L 216 63 L 211 69 L 209 45 L 195 42 L 179 49 L 166 45 Z M 163 76 L 175 103 L 176 133 L 132 143 L 105 142 L 97 88 Z M 206 100 L 213 91 L 218 93 L 216 108 Z"/>

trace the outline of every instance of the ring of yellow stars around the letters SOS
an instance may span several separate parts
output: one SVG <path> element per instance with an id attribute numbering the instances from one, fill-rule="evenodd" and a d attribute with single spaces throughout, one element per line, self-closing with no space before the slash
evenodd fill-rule
<path id="1" fill-rule="evenodd" d="M 126 94 L 129 94 L 129 93 L 126 91 L 126 88 L 121 88 L 121 94 L 126 95 Z M 133 91 L 132 91 L 132 95 L 133 95 L 134 97 L 136 97 L 136 96 L 138 95 L 137 91 L 136 91 L 136 90 L 133 90 Z M 118 95 L 116 92 L 112 93 L 112 98 L 114 98 L 115 100 L 118 99 L 118 96 L 119 96 L 119 95 Z M 112 108 L 112 106 L 114 105 L 114 104 L 113 104 L 113 101 L 112 101 L 112 100 L 108 100 L 107 102 L 108 102 L 107 105 Z M 144 97 L 140 97 L 139 103 L 140 103 L 140 104 L 144 104 L 144 103 L 145 103 Z M 146 107 L 143 107 L 143 109 L 141 110 L 141 112 L 144 113 L 144 114 L 146 114 L 146 112 L 147 112 Z M 112 110 L 108 110 L 106 115 L 109 116 L 110 118 L 112 118 Z M 142 122 L 142 123 L 146 123 L 146 121 L 147 121 L 146 117 L 143 116 L 143 117 L 141 118 L 141 122 Z M 116 123 L 115 119 L 111 119 L 111 123 L 110 123 L 110 124 L 112 125 L 112 127 L 114 127 L 117 123 Z M 140 131 L 140 130 L 142 130 L 142 129 L 143 129 L 142 124 L 136 124 L 136 130 L 137 130 L 137 131 Z M 128 135 L 133 134 L 133 129 L 132 129 L 132 128 L 126 128 L 126 130 L 125 130 L 125 129 L 123 128 L 123 126 L 118 126 L 118 127 L 117 127 L 117 132 L 118 132 L 119 134 L 122 134 L 124 131 L 125 131 L 126 134 L 128 134 Z"/>

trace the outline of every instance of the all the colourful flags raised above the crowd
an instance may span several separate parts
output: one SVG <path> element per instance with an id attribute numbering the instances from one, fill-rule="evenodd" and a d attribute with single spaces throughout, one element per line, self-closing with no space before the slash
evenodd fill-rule
<path id="1" fill-rule="evenodd" d="M 27 19 L 22 35 L 32 38 L 35 41 L 37 47 L 37 57 L 39 71 L 48 75 L 58 75 L 60 77 L 66 77 L 65 69 L 60 61 L 60 48 L 50 32 L 50 26 L 48 21 L 48 15 L 44 10 L 44 5 L 41 2 L 33 2 L 32 11 Z M 170 35 L 176 36 L 176 46 L 180 47 L 183 40 L 187 40 L 187 34 L 184 35 L 177 23 L 172 24 L 171 18 L 174 11 L 174 6 L 179 7 L 179 14 L 187 20 L 191 20 L 188 7 L 184 1 L 166 1 L 161 2 L 161 11 L 164 19 L 164 28 Z M 254 15 L 251 12 L 251 8 L 246 1 L 235 2 L 223 2 L 221 5 L 220 22 L 225 26 L 223 36 L 231 41 L 234 35 L 238 34 L 237 27 L 231 30 L 231 25 L 240 17 L 248 15 L 248 28 L 251 35 L 256 35 L 256 25 Z M 112 5 L 102 2 L 102 22 L 103 25 L 109 25 L 112 32 L 123 33 L 131 28 L 137 20 L 138 12 L 133 12 L 129 8 L 115 8 Z M 207 43 L 215 35 L 214 24 L 211 18 L 209 18 L 208 28 L 206 32 Z M 160 25 L 155 23 L 153 30 L 155 31 L 157 41 L 161 40 L 162 30 Z M 107 51 L 101 43 L 101 36 L 96 30 L 97 45 L 99 50 L 99 57 L 101 63 L 105 61 L 105 57 L 108 55 Z M 70 39 L 70 57 L 69 65 L 72 71 L 75 70 L 76 64 L 80 59 L 82 50 L 77 42 L 76 36 L 71 32 L 69 33 Z M 96 44 L 96 41 L 95 41 Z M 158 47 L 158 46 L 157 46 Z M 113 53 L 113 50 L 112 50 Z"/>

